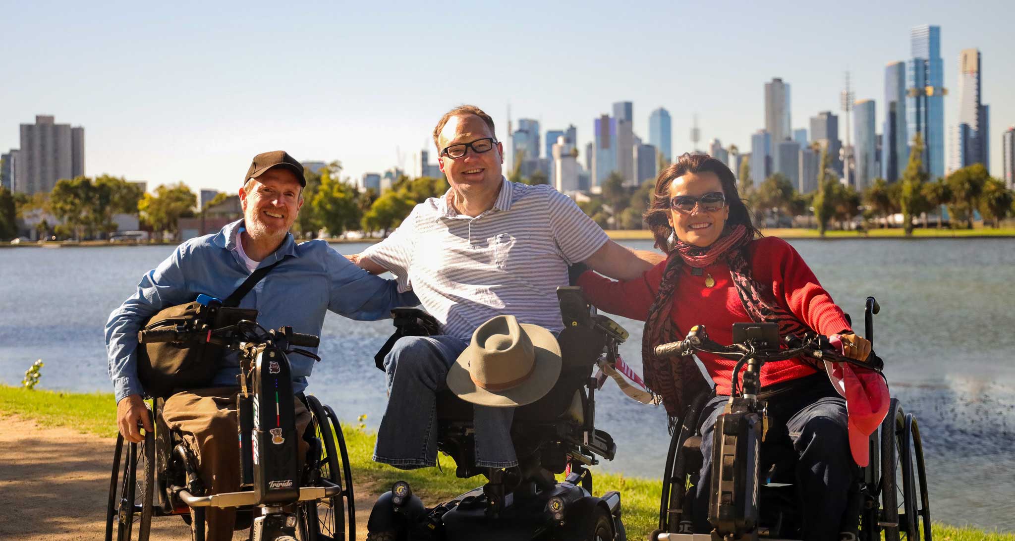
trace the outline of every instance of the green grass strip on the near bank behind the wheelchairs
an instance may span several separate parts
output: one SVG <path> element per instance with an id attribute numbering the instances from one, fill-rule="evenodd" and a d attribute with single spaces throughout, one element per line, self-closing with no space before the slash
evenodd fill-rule
<path id="1" fill-rule="evenodd" d="M 111 393 L 25 391 L 0 385 L 0 417 L 16 414 L 32 418 L 44 426 L 68 426 L 100 436 L 115 436 L 115 413 L 116 407 Z M 428 468 L 404 472 L 377 464 L 370 460 L 374 433 L 356 429 L 353 423 L 345 427 L 344 433 L 352 464 L 353 479 L 357 484 L 384 487 L 397 480 L 405 480 L 424 501 L 430 504 L 480 484 L 480 478 L 455 477 L 455 464 L 447 457 L 442 457 L 442 469 Z M 597 494 L 607 490 L 620 490 L 628 538 L 646 539 L 649 532 L 655 529 L 658 520 L 660 482 L 617 474 L 594 473 Z M 360 500 L 357 508 L 360 513 L 368 513 L 370 504 L 370 501 Z M 1015 534 L 956 528 L 942 524 L 935 524 L 934 536 L 935 539 L 944 541 L 1015 541 Z"/>

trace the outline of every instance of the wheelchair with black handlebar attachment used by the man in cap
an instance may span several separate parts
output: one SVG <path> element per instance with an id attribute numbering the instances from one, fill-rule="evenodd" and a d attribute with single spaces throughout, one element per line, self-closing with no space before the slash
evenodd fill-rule
<path id="1" fill-rule="evenodd" d="M 316 347 L 318 337 L 294 333 L 290 327 L 266 331 L 247 320 L 199 336 L 192 329 L 172 327 L 141 331 L 138 336 L 140 343 L 194 340 L 219 344 L 240 355 L 241 491 L 206 494 L 193 454 L 166 426 L 161 416 L 164 399 L 156 398 L 149 409 L 154 432 L 145 433 L 141 444 L 127 446 L 123 435 L 117 436 L 106 541 L 146 541 L 151 518 L 173 515 L 192 526 L 195 541 L 204 541 L 208 506 L 236 508 L 234 529 L 249 528 L 250 538 L 258 541 L 354 540 L 352 475 L 335 412 L 316 397 L 298 394 L 313 418 L 304 433 L 295 433 L 286 355 L 320 360 L 298 349 Z M 265 397 L 263 407 L 259 407 L 261 397 Z M 269 406 L 272 401 L 275 407 Z M 302 461 L 297 461 L 295 437 L 309 445 Z"/>

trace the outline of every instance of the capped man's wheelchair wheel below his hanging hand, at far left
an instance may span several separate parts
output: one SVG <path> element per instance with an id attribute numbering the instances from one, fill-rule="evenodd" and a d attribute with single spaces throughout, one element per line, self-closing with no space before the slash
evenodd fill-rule
<path id="1" fill-rule="evenodd" d="M 155 490 L 154 463 L 154 433 L 149 431 L 141 444 L 127 446 L 124 446 L 123 435 L 117 435 L 106 508 L 106 541 L 148 541 Z M 137 475 L 139 469 L 140 477 Z M 135 533 L 136 537 L 132 537 Z"/>

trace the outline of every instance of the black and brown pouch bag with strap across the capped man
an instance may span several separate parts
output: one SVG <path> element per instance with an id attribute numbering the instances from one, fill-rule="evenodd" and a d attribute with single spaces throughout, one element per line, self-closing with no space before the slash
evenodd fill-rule
<path id="1" fill-rule="evenodd" d="M 221 306 L 194 300 L 165 308 L 152 316 L 143 330 L 176 329 L 188 339 L 138 344 L 137 376 L 144 392 L 152 398 L 168 398 L 180 389 L 207 387 L 223 353 L 223 346 L 208 342 L 207 335 L 213 329 L 241 320 L 257 321 L 256 310 L 235 307 L 279 263 L 255 270 Z"/>

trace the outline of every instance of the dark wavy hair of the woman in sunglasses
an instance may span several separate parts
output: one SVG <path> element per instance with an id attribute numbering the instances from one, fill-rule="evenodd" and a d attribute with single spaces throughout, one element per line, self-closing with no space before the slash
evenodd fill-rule
<path id="1" fill-rule="evenodd" d="M 755 236 L 761 236 L 761 232 L 751 221 L 751 213 L 747 210 L 747 205 L 740 199 L 737 192 L 737 178 L 726 166 L 726 163 L 709 156 L 708 154 L 688 154 L 684 153 L 677 160 L 659 174 L 656 179 L 656 189 L 652 193 L 652 201 L 649 203 L 649 210 L 645 212 L 645 221 L 652 230 L 652 235 L 656 239 L 656 248 L 663 252 L 670 252 L 670 233 L 673 229 L 668 220 L 670 215 L 670 183 L 678 177 L 683 177 L 688 173 L 701 174 L 710 172 L 719 177 L 719 182 L 723 185 L 723 195 L 726 196 L 726 204 L 730 207 L 730 217 L 726 220 L 726 225 L 746 225 L 754 231 Z"/>

